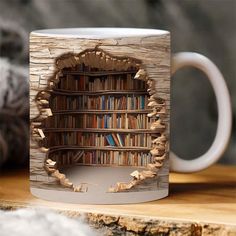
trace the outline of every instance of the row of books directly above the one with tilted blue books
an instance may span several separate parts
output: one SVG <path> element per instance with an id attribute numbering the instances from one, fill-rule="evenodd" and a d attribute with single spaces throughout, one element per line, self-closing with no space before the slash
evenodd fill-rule
<path id="1" fill-rule="evenodd" d="M 45 120 L 45 128 L 149 129 L 147 114 L 57 114 Z"/>

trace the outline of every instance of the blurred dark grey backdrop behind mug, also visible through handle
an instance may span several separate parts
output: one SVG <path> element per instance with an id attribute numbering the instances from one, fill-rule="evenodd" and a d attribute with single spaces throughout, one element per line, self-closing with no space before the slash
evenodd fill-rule
<path id="1" fill-rule="evenodd" d="M 172 52 L 196 51 L 209 57 L 226 79 L 236 113 L 236 1 L 234 0 L 2 0 L 0 22 L 13 22 L 15 63 L 27 66 L 28 32 L 63 27 L 144 27 L 171 31 Z M 2 25 L 2 23 L 0 25 Z M 13 28 L 13 27 L 12 27 Z M 4 28 L 6 29 L 6 28 Z M 4 33 L 6 35 L 6 33 Z M 8 33 L 11 41 L 14 34 Z M 5 43 L 7 48 L 8 43 Z M 9 47 L 8 47 L 9 48 Z M 4 51 L 3 51 L 4 52 Z M 7 56 L 7 50 L 4 52 Z M 176 80 L 177 78 L 177 80 Z M 198 71 L 180 71 L 172 83 L 171 148 L 191 159 L 211 145 L 217 124 L 213 90 Z M 236 129 L 221 162 L 236 163 Z"/>

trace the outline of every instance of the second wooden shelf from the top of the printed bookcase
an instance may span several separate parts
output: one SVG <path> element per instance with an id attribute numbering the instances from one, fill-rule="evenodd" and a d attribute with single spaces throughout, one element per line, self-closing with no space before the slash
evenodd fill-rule
<path id="1" fill-rule="evenodd" d="M 81 96 L 81 95 L 90 95 L 90 96 L 101 96 L 105 94 L 146 94 L 149 93 L 146 90 L 97 90 L 97 91 L 74 91 L 68 89 L 53 89 L 50 90 L 51 93 L 59 95 L 68 95 L 68 96 Z"/>

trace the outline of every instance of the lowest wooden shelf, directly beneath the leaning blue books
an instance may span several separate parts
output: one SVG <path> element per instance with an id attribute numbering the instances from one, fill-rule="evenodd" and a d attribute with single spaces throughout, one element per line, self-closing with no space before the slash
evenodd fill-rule
<path id="1" fill-rule="evenodd" d="M 136 152 L 144 152 L 150 151 L 151 148 L 147 147 L 118 147 L 118 146 L 72 146 L 72 145 L 63 145 L 63 146 L 52 146 L 49 149 L 49 152 L 61 151 L 61 150 L 106 150 L 106 151 L 136 151 Z"/>

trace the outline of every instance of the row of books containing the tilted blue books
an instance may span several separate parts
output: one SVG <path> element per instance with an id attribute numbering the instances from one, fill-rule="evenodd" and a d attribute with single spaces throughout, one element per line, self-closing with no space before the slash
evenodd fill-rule
<path id="1" fill-rule="evenodd" d="M 80 132 L 48 133 L 45 140 L 47 147 L 73 145 L 92 147 L 151 147 L 151 135 L 142 134 L 101 134 Z"/>

